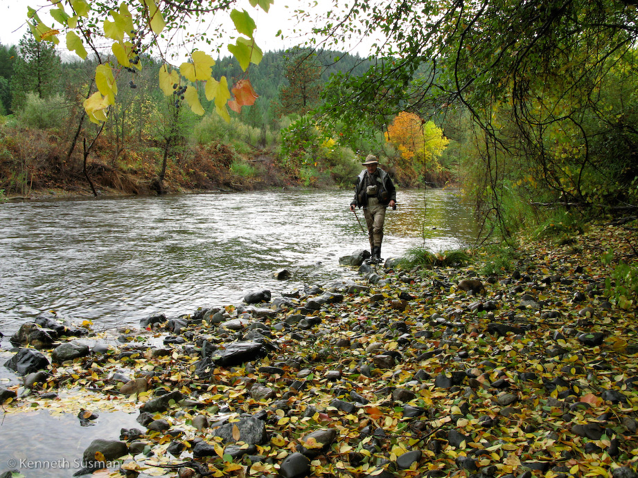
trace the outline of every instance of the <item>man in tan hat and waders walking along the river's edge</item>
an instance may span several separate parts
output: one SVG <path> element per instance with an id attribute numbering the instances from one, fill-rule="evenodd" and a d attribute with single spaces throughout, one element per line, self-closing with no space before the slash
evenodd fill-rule
<path id="1" fill-rule="evenodd" d="M 357 176 L 355 199 L 350 203 L 350 210 L 357 214 L 355 208 L 363 208 L 372 253 L 370 261 L 372 264 L 379 264 L 382 260 L 381 241 L 385 210 L 388 206 L 396 209 L 396 189 L 389 174 L 379 169 L 376 156 L 369 154 L 362 164 L 366 169 Z"/>

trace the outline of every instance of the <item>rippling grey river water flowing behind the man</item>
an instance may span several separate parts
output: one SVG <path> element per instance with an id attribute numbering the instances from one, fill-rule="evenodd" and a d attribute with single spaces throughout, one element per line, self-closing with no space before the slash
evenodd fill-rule
<path id="1" fill-rule="evenodd" d="M 349 191 L 250 192 L 0 205 L 0 319 L 9 335 L 40 311 L 104 327 L 192 313 L 355 276 L 338 259 L 368 248 Z M 384 257 L 475 237 L 454 190 L 399 191 Z M 362 212 L 357 213 L 364 224 Z M 365 227 L 365 226 L 364 226 Z M 272 277 L 287 268 L 292 278 Z"/>

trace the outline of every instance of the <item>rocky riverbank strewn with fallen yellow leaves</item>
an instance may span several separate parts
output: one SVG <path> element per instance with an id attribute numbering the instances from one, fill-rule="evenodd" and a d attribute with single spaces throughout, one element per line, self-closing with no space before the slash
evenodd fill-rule
<path id="1" fill-rule="evenodd" d="M 114 335 L 43 315 L 12 337 L 6 366 L 24 380 L 0 399 L 8 414 L 136 415 L 96 436 L 76 474 L 637 477 L 635 308 L 605 296 L 600 261 L 635 261 L 634 239 L 592 226 L 490 276 L 480 259 L 362 264 L 357 281 Z"/>

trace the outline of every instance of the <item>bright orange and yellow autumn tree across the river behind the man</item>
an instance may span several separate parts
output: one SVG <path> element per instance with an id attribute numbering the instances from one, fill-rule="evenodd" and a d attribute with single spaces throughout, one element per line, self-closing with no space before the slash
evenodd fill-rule
<path id="1" fill-rule="evenodd" d="M 388 127 L 386 139 L 400 152 L 398 166 L 406 172 L 438 172 L 438 158 L 448 146 L 443 130 L 432 121 L 419 118 L 414 113 L 402 111 Z"/>

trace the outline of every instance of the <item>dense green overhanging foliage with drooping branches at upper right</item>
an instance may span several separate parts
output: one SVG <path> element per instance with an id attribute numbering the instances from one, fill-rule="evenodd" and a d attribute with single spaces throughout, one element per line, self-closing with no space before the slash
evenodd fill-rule
<path id="1" fill-rule="evenodd" d="M 400 111 L 434 119 L 453 140 L 448 155 L 457 154 L 468 195 L 504 232 L 559 205 L 637 203 L 633 2 L 339 7 L 317 21 L 317 37 L 382 41 L 366 75 L 344 73 L 326 90 L 333 120 L 379 128 Z"/>

